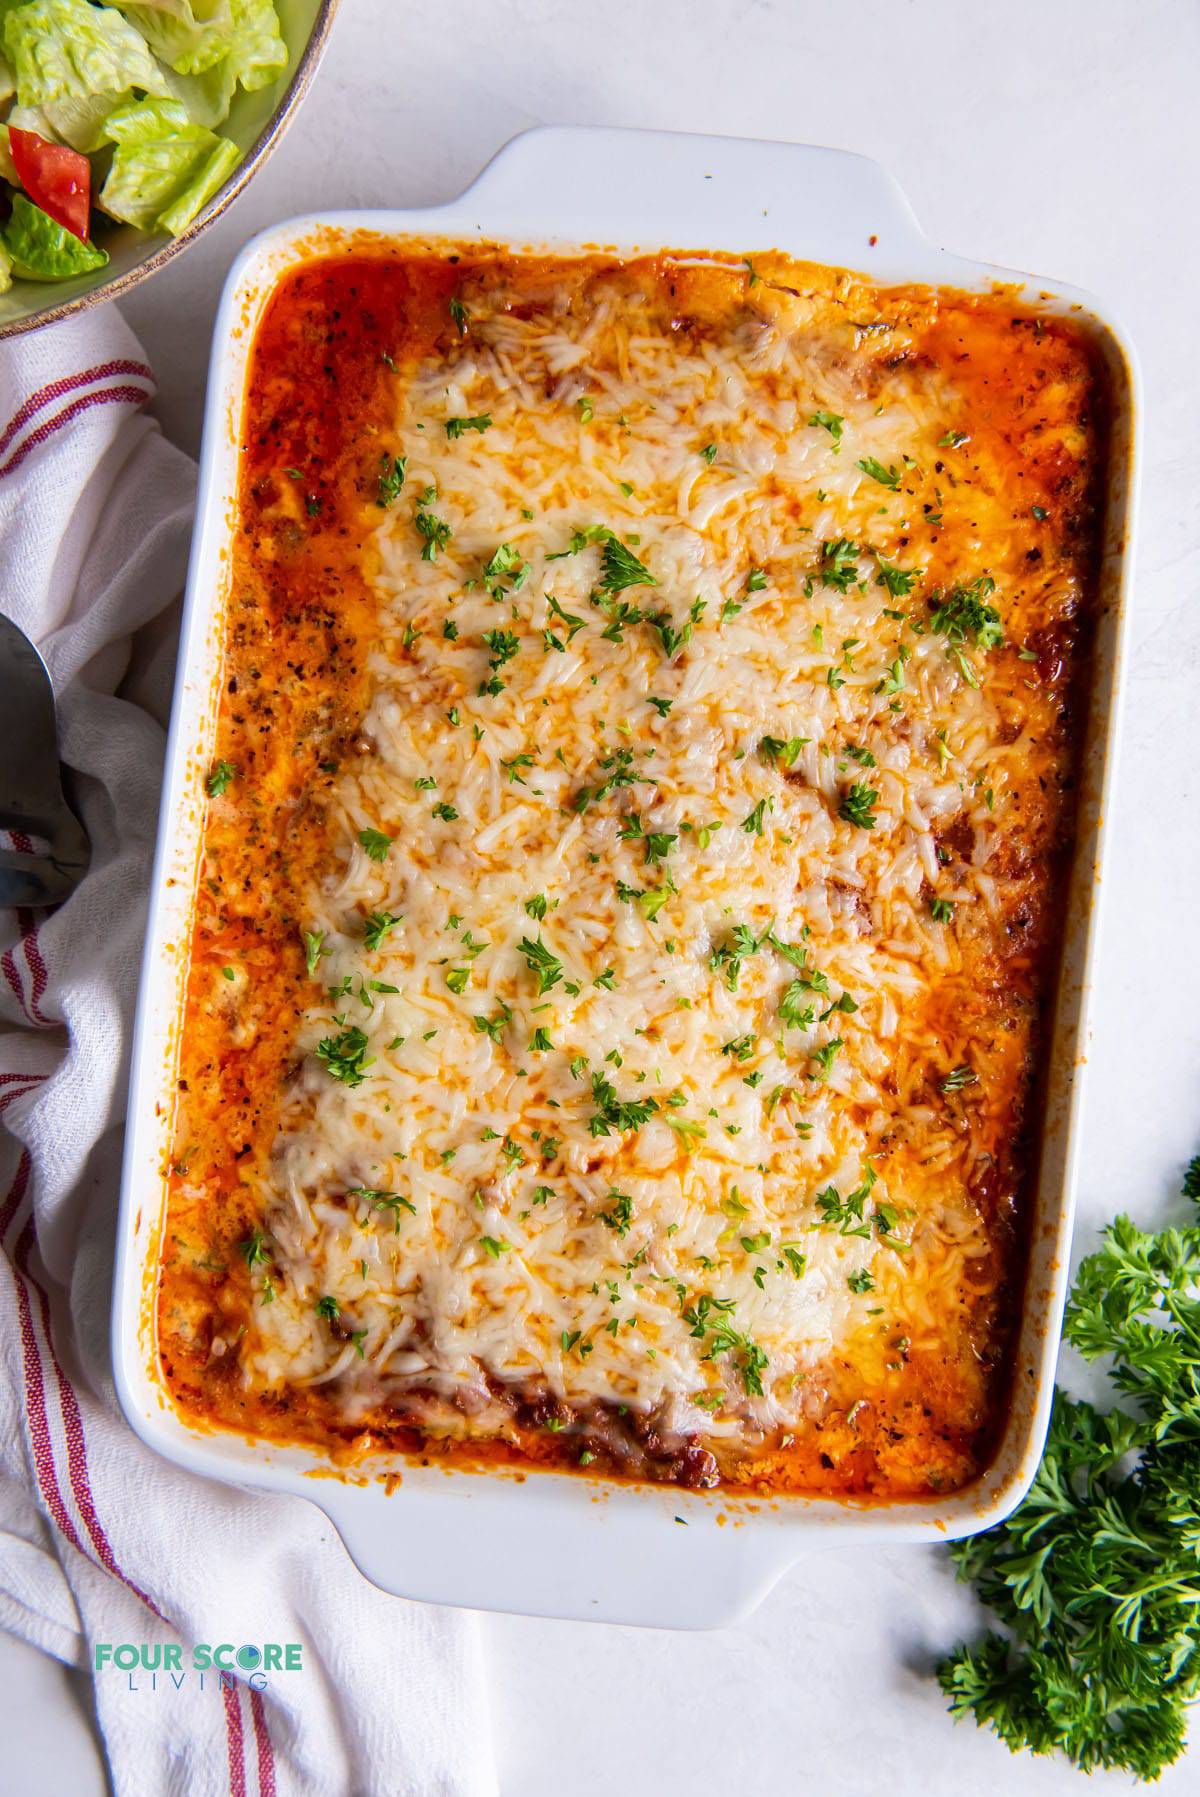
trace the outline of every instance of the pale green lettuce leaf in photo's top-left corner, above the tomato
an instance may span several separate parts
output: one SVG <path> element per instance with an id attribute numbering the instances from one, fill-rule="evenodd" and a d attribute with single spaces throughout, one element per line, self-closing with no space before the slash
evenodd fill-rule
<path id="1" fill-rule="evenodd" d="M 113 7 L 88 0 L 27 0 L 13 7 L 4 14 L 4 49 L 22 106 L 167 88 L 140 31 Z"/>

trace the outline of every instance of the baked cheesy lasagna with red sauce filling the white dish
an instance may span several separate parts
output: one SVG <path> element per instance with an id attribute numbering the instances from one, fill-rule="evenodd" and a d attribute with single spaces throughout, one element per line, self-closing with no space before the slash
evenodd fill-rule
<path id="1" fill-rule="evenodd" d="M 1013 291 L 365 243 L 250 358 L 196 1421 L 922 1497 L 1008 1403 L 1105 385 Z"/>

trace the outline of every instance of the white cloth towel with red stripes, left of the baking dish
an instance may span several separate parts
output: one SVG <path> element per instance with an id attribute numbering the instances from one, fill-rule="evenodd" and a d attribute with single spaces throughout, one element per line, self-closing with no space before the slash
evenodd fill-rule
<path id="1" fill-rule="evenodd" d="M 129 1019 L 194 492 L 153 390 L 111 307 L 0 347 L 0 609 L 49 663 L 92 839 L 59 911 L 0 911 L 0 1626 L 86 1668 L 97 1644 L 181 1650 L 174 1677 L 93 1673 L 117 1797 L 483 1797 L 474 1617 L 375 1590 L 300 1499 L 160 1461 L 113 1394 Z M 2 739 L 0 692 L 0 764 Z M 201 1682 L 194 1648 L 221 1642 L 295 1642 L 302 1669 Z"/>

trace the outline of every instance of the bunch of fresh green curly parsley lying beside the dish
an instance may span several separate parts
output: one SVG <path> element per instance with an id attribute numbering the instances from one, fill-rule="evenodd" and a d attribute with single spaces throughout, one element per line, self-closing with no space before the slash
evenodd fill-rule
<path id="1" fill-rule="evenodd" d="M 1200 1200 L 1200 1155 L 1184 1197 Z M 1200 1695 L 1200 1218 L 1144 1233 L 1117 1217 L 1080 1267 L 1065 1337 L 1110 1359 L 1130 1407 L 1056 1393 L 1029 1495 L 950 1549 L 1004 1633 L 938 1678 L 1013 1752 L 1157 1779 Z"/>

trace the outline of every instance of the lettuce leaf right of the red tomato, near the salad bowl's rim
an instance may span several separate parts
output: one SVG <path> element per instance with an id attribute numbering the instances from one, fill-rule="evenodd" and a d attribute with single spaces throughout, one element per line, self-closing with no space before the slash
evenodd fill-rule
<path id="1" fill-rule="evenodd" d="M 180 101 L 135 101 L 104 126 L 117 146 L 99 205 L 140 230 L 178 235 L 241 162 L 237 144 L 192 124 Z"/>

